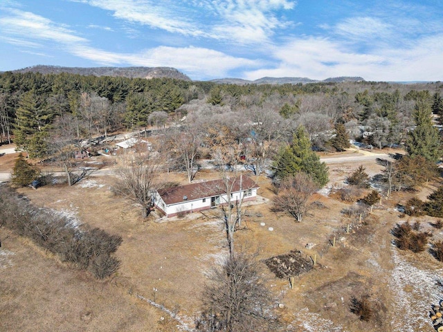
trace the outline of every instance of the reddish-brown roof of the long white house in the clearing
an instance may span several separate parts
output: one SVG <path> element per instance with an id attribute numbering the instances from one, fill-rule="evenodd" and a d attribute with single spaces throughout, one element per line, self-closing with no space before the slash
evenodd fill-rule
<path id="1" fill-rule="evenodd" d="M 259 187 L 248 176 L 237 176 L 236 178 L 229 180 L 229 187 L 232 188 L 230 189 L 230 192 L 239 192 L 240 183 L 242 190 L 249 190 Z M 178 187 L 170 187 L 159 190 L 159 194 L 166 205 L 219 196 L 221 194 L 226 194 L 226 192 L 226 184 L 221 179 L 201 183 L 190 183 L 189 185 L 180 185 Z M 187 199 L 183 199 L 185 196 Z"/>

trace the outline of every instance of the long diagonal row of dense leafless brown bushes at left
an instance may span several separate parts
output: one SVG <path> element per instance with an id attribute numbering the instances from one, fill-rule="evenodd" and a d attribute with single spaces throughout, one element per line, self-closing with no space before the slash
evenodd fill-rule
<path id="1" fill-rule="evenodd" d="M 118 259 L 110 256 L 122 243 L 120 236 L 100 228 L 73 228 L 66 217 L 33 207 L 6 185 L 0 185 L 0 225 L 32 239 L 78 268 L 89 268 L 100 279 L 120 266 Z"/>

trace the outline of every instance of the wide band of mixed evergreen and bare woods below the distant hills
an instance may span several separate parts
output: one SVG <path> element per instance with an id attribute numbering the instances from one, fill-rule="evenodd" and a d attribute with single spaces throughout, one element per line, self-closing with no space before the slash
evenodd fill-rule
<path id="1" fill-rule="evenodd" d="M 320 150 L 346 148 L 347 136 L 361 138 L 363 131 L 370 133 L 365 142 L 374 147 L 406 142 L 419 100 L 437 116 L 442 113 L 442 89 L 439 82 L 237 85 L 6 72 L 0 74 L 0 133 L 1 142 L 13 135 L 19 147 L 44 156 L 51 152 L 48 142 L 163 125 L 189 114 L 188 126 L 219 123 L 233 129 L 237 142 L 248 136 L 254 149 L 244 154 L 256 169 L 266 167 L 276 142 L 289 143 L 300 125 Z"/>

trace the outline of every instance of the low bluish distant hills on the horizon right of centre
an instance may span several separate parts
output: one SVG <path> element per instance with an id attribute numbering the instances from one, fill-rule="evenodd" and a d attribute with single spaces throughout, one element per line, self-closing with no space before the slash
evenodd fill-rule
<path id="1" fill-rule="evenodd" d="M 326 80 L 311 80 L 307 77 L 262 77 L 258 80 L 242 80 L 239 78 L 221 78 L 216 80 L 210 80 L 210 82 L 215 82 L 218 84 L 306 84 L 306 83 L 317 83 L 317 82 L 361 82 L 364 81 L 363 77 L 329 77 Z"/>

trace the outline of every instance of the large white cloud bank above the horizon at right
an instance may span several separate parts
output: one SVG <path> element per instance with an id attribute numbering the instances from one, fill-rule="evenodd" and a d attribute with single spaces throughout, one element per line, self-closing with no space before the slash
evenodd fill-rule
<path id="1" fill-rule="evenodd" d="M 359 54 L 329 39 L 295 39 L 273 52 L 273 68 L 248 71 L 245 78 L 361 76 L 374 81 L 442 80 L 443 34 L 426 37 L 413 47 L 379 48 Z"/>

